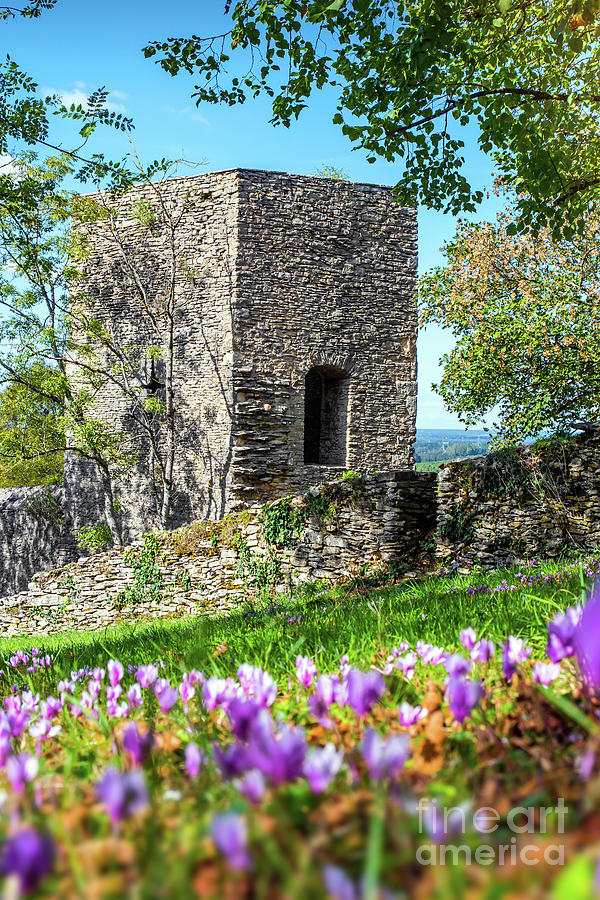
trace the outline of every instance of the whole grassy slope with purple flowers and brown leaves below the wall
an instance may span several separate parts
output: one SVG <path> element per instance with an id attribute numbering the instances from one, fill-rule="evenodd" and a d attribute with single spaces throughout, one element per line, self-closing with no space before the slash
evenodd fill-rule
<path id="1" fill-rule="evenodd" d="M 445 808 L 467 804 L 472 809 L 493 803 L 501 819 L 493 841 L 509 843 L 510 809 L 554 807 L 559 797 L 568 797 L 566 837 L 571 849 L 561 872 L 568 883 L 562 894 L 552 896 L 588 896 L 575 892 L 574 885 L 582 878 L 576 848 L 589 850 L 583 878 L 587 890 L 594 874 L 590 854 L 597 852 L 590 845 L 596 831 L 590 829 L 587 816 L 600 802 L 600 778 L 583 782 L 578 766 L 597 751 L 600 705 L 593 697 L 582 698 L 573 660 L 564 661 L 557 686 L 545 693 L 532 682 L 532 662 L 544 656 L 548 621 L 557 610 L 580 600 L 582 585 L 589 588 L 598 569 L 594 557 L 470 576 L 425 575 L 401 583 L 381 584 L 364 577 L 336 588 L 315 585 L 285 600 L 266 599 L 219 619 L 5 639 L 0 642 L 0 690 L 13 696 L 5 698 L 8 714 L 0 716 L 0 750 L 8 752 L 10 728 L 14 735 L 9 752 L 35 754 L 39 770 L 27 784 L 15 786 L 8 766 L 0 766 L 0 791 L 9 813 L 0 810 L 3 864 L 18 863 L 3 842 L 11 840 L 14 823 L 20 821 L 50 835 L 57 848 L 52 871 L 44 872 L 35 894 L 40 897 L 491 900 L 507 894 L 526 896 L 530 887 L 537 891 L 535 896 L 550 896 L 557 875 L 552 865 L 534 870 L 513 866 L 501 876 L 496 869 L 467 863 L 416 865 L 418 849 L 424 842 L 431 845 L 427 828 L 423 830 L 415 813 L 416 803 L 435 798 Z M 366 710 L 354 702 L 336 701 L 328 707 L 329 722 L 311 706 L 316 687 L 306 682 L 303 686 L 296 678 L 298 654 L 312 658 L 320 673 L 337 672 L 342 678 L 344 653 L 351 665 L 367 670 L 373 661 L 383 663 L 388 651 L 402 641 L 414 646 L 421 640 L 456 650 L 460 631 L 467 626 L 497 645 L 508 634 L 526 638 L 533 656 L 510 681 L 501 672 L 499 653 L 489 664 L 475 663 L 471 675 L 483 680 L 485 691 L 482 687 L 480 702 L 466 719 L 451 712 L 448 692 L 441 685 L 446 672 L 435 663 L 420 660 L 413 679 L 398 670 L 385 679 L 371 672 L 368 677 L 374 675 L 382 683 L 378 701 Z M 28 673 L 29 660 L 8 665 L 7 658 L 16 649 L 35 646 L 54 656 L 50 668 Z M 139 704 L 132 700 L 125 713 L 115 712 L 103 675 L 94 675 L 99 693 L 96 699 L 92 696 L 90 671 L 75 675 L 76 685 L 57 688 L 59 679 L 72 670 L 105 666 L 111 658 L 123 664 L 117 678 L 123 692 L 131 690 L 134 664 L 164 660 L 160 674 L 179 687 L 181 699 L 161 711 L 160 692 L 146 687 Z M 208 685 L 201 688 L 199 681 L 194 682 L 195 694 L 184 699 L 182 673 L 199 669 L 206 676 L 235 677 L 242 662 L 268 670 L 277 690 L 268 713 L 264 708 L 260 714 L 250 710 L 256 730 L 248 725 L 250 730 L 245 736 L 238 733 L 236 740 L 232 723 L 239 710 L 232 713 L 223 698 L 211 705 L 210 692 L 203 693 Z M 12 682 L 18 685 L 13 688 Z M 231 686 L 236 688 L 233 682 Z M 30 721 L 39 725 L 44 698 L 62 691 L 63 706 L 52 718 L 60 730 L 39 738 L 39 732 L 28 730 Z M 422 705 L 425 717 L 413 725 L 403 724 L 398 714 L 402 701 Z M 244 705 L 247 708 L 246 700 Z M 24 712 L 31 716 L 24 720 L 27 728 L 20 724 Z M 581 723 L 583 731 L 578 733 Z M 139 759 L 126 746 L 132 729 L 138 738 L 151 732 L 153 746 Z M 400 763 L 393 774 L 377 774 L 371 768 L 365 749 L 371 729 L 387 747 L 396 741 L 396 753 L 398 742 L 408 748 L 405 764 Z M 343 757 L 341 768 L 327 777 L 326 787 L 309 785 L 306 768 L 293 769 L 283 778 L 269 774 L 276 771 L 270 767 L 284 752 L 282 747 L 289 750 L 290 735 L 294 740 L 301 735 L 302 766 L 331 751 Z M 187 763 L 191 742 L 204 754 L 196 773 Z M 241 770 L 228 771 L 223 759 L 236 747 L 238 753 L 254 755 L 246 756 Z M 250 771 L 256 773 L 258 767 L 265 773 L 264 793 L 258 799 L 246 795 L 236 777 L 249 766 L 254 766 Z M 118 779 L 133 774 L 147 792 L 137 812 L 120 812 L 112 824 L 109 801 L 99 793 L 111 771 Z M 247 831 L 250 859 L 241 868 L 215 837 L 215 822 L 223 815 Z M 545 835 L 539 844 L 536 835 L 527 837 L 543 854 Z M 488 840 L 487 835 L 484 838 Z M 552 832 L 549 839 L 555 838 L 562 840 Z M 482 836 L 468 825 L 456 840 L 476 849 Z M 345 892 L 328 890 L 326 873 L 331 866 L 342 869 L 343 878 L 354 886 Z M 339 871 L 336 877 L 341 877 Z M 389 893 L 380 893 L 379 886 Z"/>

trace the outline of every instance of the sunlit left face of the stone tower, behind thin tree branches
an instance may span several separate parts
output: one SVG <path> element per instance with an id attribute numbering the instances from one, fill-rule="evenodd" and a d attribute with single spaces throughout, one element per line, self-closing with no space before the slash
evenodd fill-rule
<path id="1" fill-rule="evenodd" d="M 167 329 L 163 291 L 169 283 L 170 233 L 161 203 L 178 219 L 173 240 L 179 275 L 176 279 L 174 374 L 177 453 L 170 527 L 195 518 L 218 519 L 227 511 L 226 495 L 232 452 L 232 303 L 238 218 L 238 178 L 235 172 L 174 178 L 161 188 L 160 200 L 148 186 L 117 201 L 103 196 L 115 210 L 114 223 L 101 218 L 80 223 L 77 232 L 87 243 L 83 280 L 77 291 L 88 295 L 95 315 L 137 361 L 129 380 L 151 396 L 153 377 L 164 378 L 165 359 L 154 360 L 150 347 L 166 352 Z M 98 201 L 98 197 L 92 196 Z M 156 224 L 144 227 L 137 211 L 146 204 Z M 140 302 L 136 284 L 146 300 Z M 144 304 L 154 319 L 144 310 Z M 153 322 L 156 322 L 156 327 Z M 162 330 L 161 330 L 162 329 Z M 112 365 L 118 359 L 100 348 Z M 76 372 L 76 366 L 73 367 Z M 135 465 L 116 479 L 115 493 L 123 508 L 123 538 L 129 542 L 157 527 L 160 495 L 153 478 L 148 441 L 131 417 L 124 400 L 122 378 L 106 379 L 97 393 L 95 413 L 115 430 L 128 435 L 125 449 Z M 146 384 L 147 387 L 140 387 Z M 159 428 L 159 419 L 156 427 Z M 73 497 L 78 526 L 103 518 L 95 466 L 67 454 L 65 487 Z"/>

